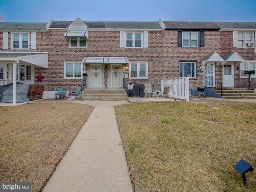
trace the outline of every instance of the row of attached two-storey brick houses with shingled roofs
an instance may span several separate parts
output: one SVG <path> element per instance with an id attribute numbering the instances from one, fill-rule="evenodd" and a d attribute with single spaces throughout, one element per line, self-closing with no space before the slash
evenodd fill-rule
<path id="1" fill-rule="evenodd" d="M 46 98 L 57 87 L 116 89 L 129 79 L 160 88 L 161 80 L 189 77 L 191 92 L 248 87 L 255 32 L 246 22 L 0 22 L 0 84 L 43 85 Z"/>

